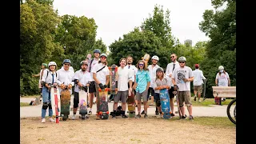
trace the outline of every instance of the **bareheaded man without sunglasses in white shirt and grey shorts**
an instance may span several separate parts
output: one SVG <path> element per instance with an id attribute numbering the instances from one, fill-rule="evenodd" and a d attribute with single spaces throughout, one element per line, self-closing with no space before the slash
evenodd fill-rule
<path id="1" fill-rule="evenodd" d="M 114 113 L 112 118 L 116 118 L 116 111 L 118 109 L 118 102 L 122 101 L 122 118 L 128 118 L 125 114 L 126 111 L 126 100 L 128 98 L 128 82 L 129 90 L 132 92 L 132 80 L 134 75 L 131 73 L 132 70 L 126 68 L 126 58 L 121 58 L 119 61 L 120 66 L 118 67 L 118 74 L 116 79 L 118 80 L 118 94 L 114 95 Z"/>

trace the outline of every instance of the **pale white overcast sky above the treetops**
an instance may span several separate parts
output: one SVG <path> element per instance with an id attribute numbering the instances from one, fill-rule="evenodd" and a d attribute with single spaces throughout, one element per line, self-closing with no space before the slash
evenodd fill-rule
<path id="1" fill-rule="evenodd" d="M 171 31 L 179 42 L 190 39 L 194 46 L 209 40 L 199 30 L 199 22 L 205 10 L 214 10 L 210 0 L 54 0 L 54 10 L 59 15 L 94 18 L 98 26 L 96 40 L 102 38 L 107 47 L 135 26 L 141 26 L 153 14 L 155 5 L 170 10 Z"/>

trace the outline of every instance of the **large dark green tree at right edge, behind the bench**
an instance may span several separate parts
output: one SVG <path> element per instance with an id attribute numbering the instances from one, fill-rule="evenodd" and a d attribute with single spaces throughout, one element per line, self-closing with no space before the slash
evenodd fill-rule
<path id="1" fill-rule="evenodd" d="M 199 23 L 202 32 L 209 36 L 206 44 L 206 59 L 202 62 L 208 78 L 207 89 L 212 95 L 218 66 L 224 66 L 230 75 L 231 86 L 236 86 L 236 1 L 212 0 L 214 10 L 206 10 Z M 226 5 L 224 9 L 218 10 Z"/>

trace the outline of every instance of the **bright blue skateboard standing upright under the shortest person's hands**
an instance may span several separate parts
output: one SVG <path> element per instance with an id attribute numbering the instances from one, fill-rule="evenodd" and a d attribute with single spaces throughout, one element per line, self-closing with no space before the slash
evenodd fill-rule
<path id="1" fill-rule="evenodd" d="M 160 102 L 162 109 L 162 116 L 164 119 L 170 118 L 170 96 L 167 89 L 160 90 Z"/>

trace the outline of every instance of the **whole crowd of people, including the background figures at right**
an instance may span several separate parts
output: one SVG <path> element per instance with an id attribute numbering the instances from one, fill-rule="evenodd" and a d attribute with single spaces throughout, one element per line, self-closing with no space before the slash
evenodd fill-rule
<path id="1" fill-rule="evenodd" d="M 192 70 L 189 66 L 186 66 L 186 58 L 179 57 L 177 61 L 176 54 L 170 54 L 171 62 L 166 66 L 166 72 L 162 67 L 158 66 L 159 58 L 154 55 L 151 58 L 151 64 L 146 67 L 144 60 L 139 60 L 137 65 L 132 65 L 133 58 L 127 56 L 121 58 L 119 61 L 118 72 L 116 75 L 116 81 L 118 82 L 118 92 L 114 94 L 114 107 L 112 118 L 117 118 L 118 102 L 122 102 L 122 118 L 128 118 L 125 114 L 126 100 L 130 93 L 134 93 L 135 102 L 138 107 L 138 113 L 135 118 L 141 118 L 144 114 L 144 118 L 148 118 L 147 115 L 147 101 L 154 98 L 155 102 L 155 114 L 161 116 L 161 102 L 160 102 L 160 90 L 167 89 L 170 95 L 170 110 L 174 112 L 174 90 L 178 91 L 178 106 L 180 107 L 182 117 L 186 118 L 184 104 L 189 112 L 189 118 L 193 118 L 192 103 L 190 94 L 190 82 L 194 84 L 194 101 L 198 96 L 198 102 L 200 101 L 202 93 L 203 80 L 206 79 L 202 70 L 199 70 L 199 65 L 195 64 L 195 70 Z M 46 69 L 46 63 L 42 64 L 42 70 L 40 74 L 34 74 L 33 76 L 40 76 L 39 88 L 42 91 L 42 122 L 46 122 L 46 110 L 49 107 L 50 122 L 54 122 L 52 118 L 52 107 L 50 104 L 50 85 L 59 87 L 59 91 L 65 89 L 68 86 L 70 94 L 72 94 L 72 87 L 74 86 L 74 106 L 72 119 L 75 119 L 78 110 L 79 90 L 82 87 L 85 90 L 89 90 L 89 113 L 92 114 L 94 94 L 98 95 L 98 89 L 104 89 L 110 82 L 110 70 L 107 67 L 107 55 L 101 54 L 101 50 L 94 50 L 94 58 L 90 62 L 86 60 L 80 63 L 80 70 L 74 72 L 71 67 L 70 59 L 65 59 L 62 62 L 62 68 L 57 70 L 57 64 L 55 62 L 49 62 Z M 224 71 L 224 67 L 218 68 L 220 71 L 216 75 L 216 85 L 224 86 L 226 83 L 230 86 L 229 76 Z M 48 76 L 49 75 L 49 76 Z M 224 80 L 227 78 L 227 81 Z M 143 111 L 141 113 L 141 105 L 143 102 Z M 171 114 L 174 116 L 174 113 Z M 97 115 L 96 119 L 100 119 Z"/>

